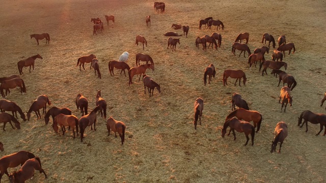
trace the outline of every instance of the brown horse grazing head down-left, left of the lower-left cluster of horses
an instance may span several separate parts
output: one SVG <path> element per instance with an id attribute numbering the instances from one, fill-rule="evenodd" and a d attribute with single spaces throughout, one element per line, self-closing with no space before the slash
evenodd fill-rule
<path id="1" fill-rule="evenodd" d="M 46 113 L 46 103 L 48 105 L 51 105 L 51 101 L 46 95 L 38 96 L 37 99 L 32 103 L 29 111 L 27 112 L 27 119 L 30 120 L 32 111 L 35 112 L 37 119 L 41 119 L 40 109 L 43 108 L 43 114 L 44 112 Z"/>

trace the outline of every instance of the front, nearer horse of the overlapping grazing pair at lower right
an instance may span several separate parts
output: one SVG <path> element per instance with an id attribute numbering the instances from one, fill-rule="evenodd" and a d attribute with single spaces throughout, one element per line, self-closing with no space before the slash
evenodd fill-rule
<path id="1" fill-rule="evenodd" d="M 251 141 L 252 141 L 251 145 L 254 145 L 255 128 L 251 123 L 249 123 L 247 121 L 239 120 L 234 117 L 226 120 L 223 125 L 223 129 L 222 129 L 222 137 L 223 138 L 226 134 L 226 130 L 228 127 L 230 127 L 230 130 L 232 130 L 232 132 L 233 132 L 234 140 L 236 139 L 234 130 L 236 130 L 237 132 L 240 132 L 240 133 L 244 132 L 244 135 L 246 135 L 246 138 L 247 138 L 247 141 L 244 144 L 245 146 L 248 144 L 249 134 L 251 134 Z"/>

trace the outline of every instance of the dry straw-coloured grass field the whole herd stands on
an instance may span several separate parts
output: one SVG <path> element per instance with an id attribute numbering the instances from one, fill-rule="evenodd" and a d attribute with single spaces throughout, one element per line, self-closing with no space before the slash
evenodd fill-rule
<path id="1" fill-rule="evenodd" d="M 325 92 L 324 78 L 326 13 L 319 1 L 166 1 L 166 13 L 155 13 L 152 1 L 9 1 L 0 14 L 1 75 L 17 74 L 16 63 L 40 53 L 35 71 L 24 68 L 23 79 L 28 93 L 12 90 L 8 99 L 26 111 L 41 94 L 48 95 L 52 106 L 69 107 L 80 117 L 74 98 L 82 93 L 95 106 L 96 89 L 108 103 L 108 116 L 127 125 L 125 144 L 119 138 L 107 137 L 105 120 L 98 117 L 97 131 L 86 130 L 84 143 L 55 134 L 44 120 L 21 123 L 21 130 L 0 133 L 5 145 L 1 155 L 19 150 L 39 156 L 48 174 L 45 180 L 36 174 L 33 182 L 323 182 L 326 150 L 323 136 L 315 137 L 319 126 L 309 124 L 308 133 L 296 126 L 303 110 L 325 112 L 319 101 Z M 92 35 L 90 18 L 114 14 L 116 24 L 105 25 L 104 33 Z M 151 27 L 145 16 L 151 15 Z M 202 51 L 195 47 L 195 38 L 213 30 L 198 29 L 199 20 L 213 16 L 225 24 L 222 47 L 218 51 Z M 176 52 L 166 49 L 165 32 L 173 31 L 172 23 L 188 24 L 188 38 L 181 37 Z M 181 33 L 181 31 L 177 31 Z M 277 79 L 262 77 L 257 68 L 249 70 L 247 58 L 231 55 L 231 44 L 242 32 L 249 32 L 249 47 L 261 47 L 261 36 L 269 33 L 276 39 L 285 35 L 293 42 L 295 54 L 286 56 L 287 73 L 298 85 L 293 90 L 293 106 L 280 112 Z M 49 33 L 51 41 L 36 45 L 30 34 Z M 135 46 L 135 36 L 143 35 L 148 47 Z M 149 71 L 161 85 L 149 98 L 141 81 L 134 77 L 128 86 L 127 77 L 110 76 L 109 60 L 118 59 L 123 51 L 130 54 L 128 64 L 134 66 L 138 52 L 150 54 L 155 71 Z M 102 79 L 88 69 L 80 72 L 77 58 L 95 54 L 100 61 Z M 239 54 L 239 51 L 236 51 Z M 268 59 L 270 55 L 266 56 Z M 211 84 L 204 86 L 203 72 L 213 63 L 217 68 Z M 247 86 L 223 87 L 225 69 L 242 69 Z M 270 72 L 270 70 L 268 70 Z M 261 131 L 255 145 L 246 146 L 243 134 L 236 141 L 221 137 L 225 116 L 230 112 L 231 94 L 240 93 L 250 108 L 263 114 Z M 193 103 L 204 99 L 202 126 L 194 131 Z M 19 119 L 22 121 L 21 119 Z M 289 136 L 282 153 L 270 154 L 273 132 L 279 121 L 288 124 Z M 2 127 L 1 127 L 2 128 Z M 10 169 L 9 171 L 13 171 Z M 7 176 L 3 177 L 8 180 Z M 30 181 L 30 182 L 32 182 Z"/>

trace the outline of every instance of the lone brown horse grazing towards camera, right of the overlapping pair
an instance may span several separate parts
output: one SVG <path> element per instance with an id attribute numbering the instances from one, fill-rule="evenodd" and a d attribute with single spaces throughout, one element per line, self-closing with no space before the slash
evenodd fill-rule
<path id="1" fill-rule="evenodd" d="M 280 149 L 279 153 L 281 153 L 281 147 L 283 144 L 284 139 L 287 137 L 287 125 L 283 121 L 280 121 L 276 124 L 275 131 L 274 131 L 274 140 L 271 141 L 271 149 L 270 153 L 276 150 L 277 143 L 280 142 Z"/>

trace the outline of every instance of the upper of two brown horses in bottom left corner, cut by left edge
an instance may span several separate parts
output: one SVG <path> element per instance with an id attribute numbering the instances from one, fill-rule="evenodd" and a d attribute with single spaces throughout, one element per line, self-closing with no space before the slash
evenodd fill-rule
<path id="1" fill-rule="evenodd" d="M 22 166 L 27 160 L 32 158 L 35 158 L 35 156 L 28 151 L 19 151 L 18 153 L 2 157 L 0 159 L 0 181 L 5 173 L 9 176 L 8 168 L 15 168 L 18 165 Z"/>

